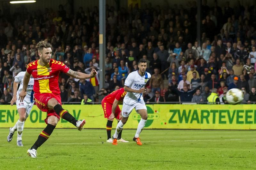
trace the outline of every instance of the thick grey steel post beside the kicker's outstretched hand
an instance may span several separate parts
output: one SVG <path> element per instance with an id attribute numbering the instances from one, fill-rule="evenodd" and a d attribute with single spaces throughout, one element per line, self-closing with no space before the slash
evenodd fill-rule
<path id="1" fill-rule="evenodd" d="M 105 87 L 105 56 L 106 56 L 106 0 L 99 0 L 99 19 L 100 19 L 100 89 Z"/>

